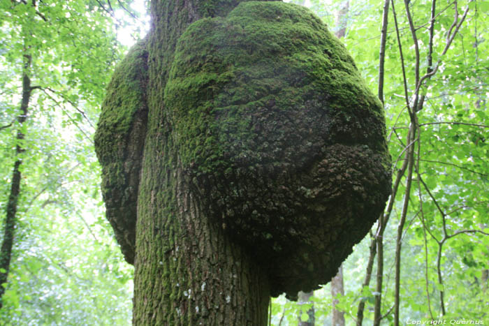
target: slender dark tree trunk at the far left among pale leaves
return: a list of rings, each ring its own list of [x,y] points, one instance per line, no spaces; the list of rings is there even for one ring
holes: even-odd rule
[[[20,155],[24,151],[22,147],[22,140],[24,140],[24,133],[22,133],[22,124],[27,119],[27,110],[29,108],[29,100],[31,98],[31,80],[29,79],[29,70],[31,67],[31,57],[28,54],[24,55],[24,70],[22,72],[22,102],[20,104],[20,115],[17,117],[19,126],[17,129],[17,145],[15,147],[15,154],[17,159],[13,165],[12,182],[10,184],[10,195],[8,196],[5,226],[3,230],[3,242],[1,244],[0,251],[0,284],[6,283],[8,279],[8,271],[10,269],[10,258],[12,257],[13,238],[15,234],[15,223],[17,215],[17,202],[20,194],[20,165],[22,164],[22,158]],[[0,286],[0,309],[3,306],[2,297],[5,293],[5,288]]]

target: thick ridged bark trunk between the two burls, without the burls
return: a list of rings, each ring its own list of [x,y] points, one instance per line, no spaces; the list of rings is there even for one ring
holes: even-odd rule
[[[152,1],[148,128],[136,225],[134,325],[267,323],[267,275],[252,259],[253,253],[209,221],[209,212],[194,196],[192,182],[173,145],[163,101],[177,38],[191,22],[206,15],[224,15],[238,2],[227,1],[224,6],[213,1]]]

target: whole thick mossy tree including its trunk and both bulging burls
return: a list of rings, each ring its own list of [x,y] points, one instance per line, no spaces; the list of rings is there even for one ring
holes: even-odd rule
[[[382,105],[305,8],[151,8],[96,133],[133,323],[265,325],[270,295],[328,283],[384,209]]]

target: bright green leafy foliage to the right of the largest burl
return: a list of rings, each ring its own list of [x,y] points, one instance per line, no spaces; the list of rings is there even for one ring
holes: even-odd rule
[[[418,38],[420,71],[424,73],[429,62],[426,58],[430,52],[432,1],[408,3]],[[342,6],[341,1],[309,1],[309,4],[328,22],[330,28],[336,28],[335,13]],[[443,54],[455,17],[455,5],[458,5],[458,22],[463,10],[468,7],[469,11],[453,43]],[[407,92],[411,96],[416,90],[416,51],[403,7],[402,1],[395,2]],[[400,321],[404,323],[407,318],[465,318],[487,323],[489,147],[486,135],[489,128],[489,71],[487,56],[483,53],[488,47],[488,8],[483,1],[437,2],[436,8],[431,68],[439,63],[439,69],[421,87],[425,102],[423,109],[417,113],[419,139],[414,144],[414,174],[407,220],[402,232]],[[344,43],[372,90],[377,88],[379,74],[381,15],[382,8],[378,1],[349,1]],[[402,63],[392,11],[389,14],[385,65],[384,96],[389,149],[395,162],[393,172],[397,172],[404,161],[411,121],[404,97]],[[412,104],[413,98],[409,97],[409,100]],[[406,179],[402,178],[391,220],[384,233],[382,324],[393,323],[394,320],[395,234],[402,215],[406,184]],[[372,231],[375,232],[375,229]],[[374,281],[367,288],[360,286],[365,276],[369,242],[370,239],[365,239],[359,244],[344,265],[347,293],[340,306],[346,312],[347,324],[355,323],[360,300],[365,300],[366,304],[365,323],[374,317],[374,297],[379,295],[374,290]],[[372,274],[376,274],[375,268]],[[441,292],[444,295],[443,304]],[[330,300],[324,297],[324,293],[326,291],[316,293],[319,301]],[[282,306],[281,301],[275,304]],[[279,307],[274,306],[274,309],[281,311]],[[322,318],[318,316],[321,313],[320,309],[316,309],[316,320]]]

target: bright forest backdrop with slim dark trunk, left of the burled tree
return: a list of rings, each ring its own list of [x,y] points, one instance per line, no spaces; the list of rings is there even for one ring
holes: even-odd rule
[[[2,325],[127,320],[129,300],[111,298],[127,296],[131,272],[97,218],[92,121],[123,51],[102,7],[0,2]]]

